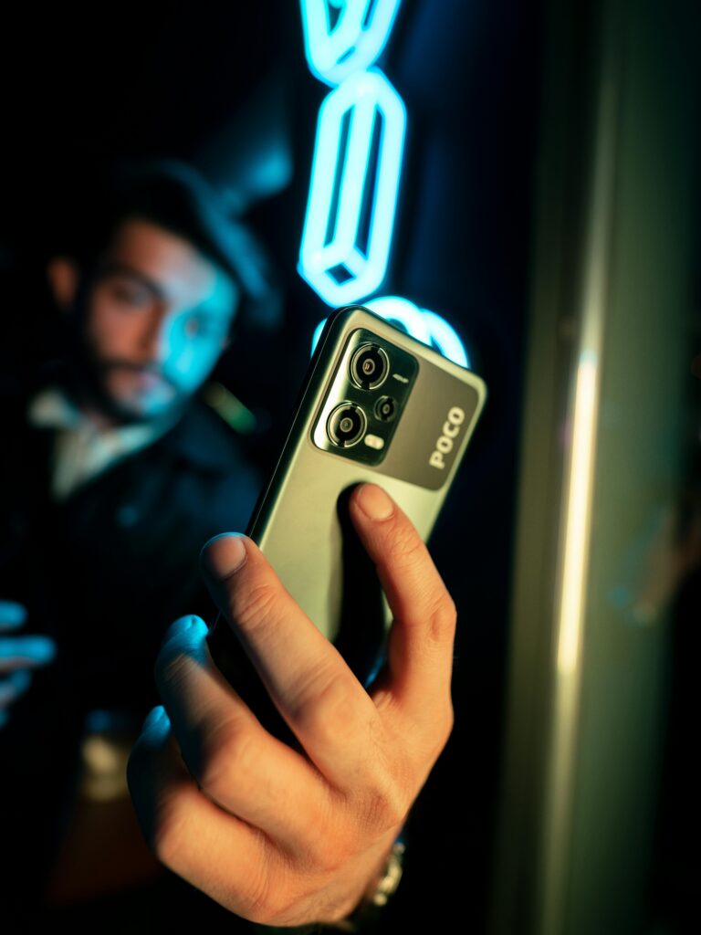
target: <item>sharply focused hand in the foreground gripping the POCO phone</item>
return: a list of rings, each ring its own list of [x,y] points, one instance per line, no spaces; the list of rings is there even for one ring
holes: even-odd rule
[[[165,708],[150,712],[129,763],[157,856],[268,925],[350,913],[451,732],[451,597],[379,487],[357,488],[350,516],[394,617],[388,664],[371,692],[257,546],[218,537],[203,550],[207,585],[302,752],[265,732],[213,664],[205,624],[183,617],[156,663]]]

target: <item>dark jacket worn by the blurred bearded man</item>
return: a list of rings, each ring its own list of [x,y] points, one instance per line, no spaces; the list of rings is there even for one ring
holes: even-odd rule
[[[25,400],[0,405],[0,598],[24,604],[24,631],[58,646],[0,730],[0,828],[17,871],[4,880],[7,907],[41,888],[86,714],[140,720],[159,702],[153,663],[166,627],[183,613],[212,617],[199,550],[245,530],[259,479],[231,429],[193,402],[161,439],[55,503],[53,433],[27,423]]]

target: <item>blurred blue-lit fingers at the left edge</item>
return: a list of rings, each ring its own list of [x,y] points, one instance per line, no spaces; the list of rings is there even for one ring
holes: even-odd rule
[[[49,637],[14,635],[26,618],[27,611],[21,604],[0,600],[0,728],[7,724],[10,705],[32,683],[30,669],[45,666],[56,654],[55,643]]]

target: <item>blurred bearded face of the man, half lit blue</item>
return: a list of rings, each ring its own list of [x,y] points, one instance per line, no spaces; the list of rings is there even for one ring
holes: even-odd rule
[[[85,340],[101,395],[123,419],[156,418],[207,379],[226,344],[234,281],[187,240],[122,222],[85,299]]]

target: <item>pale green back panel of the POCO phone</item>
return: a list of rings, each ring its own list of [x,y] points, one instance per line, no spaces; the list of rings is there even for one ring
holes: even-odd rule
[[[339,397],[350,394],[353,400],[349,361],[374,340],[388,350],[391,365],[396,363],[397,372],[390,367],[382,391],[393,393],[395,387],[397,396],[404,395],[402,408],[380,453],[366,452],[366,446],[357,452],[340,449],[328,435],[329,412]],[[366,309],[342,309],[329,320],[249,529],[282,583],[328,639],[338,637],[349,603],[358,608],[357,616],[363,615],[358,588],[371,590],[367,577],[357,579],[357,586],[348,578],[350,532],[339,497],[342,501],[359,482],[379,483],[427,540],[485,395],[475,374]],[[358,396],[369,398],[362,392]],[[376,438],[371,427],[365,434]],[[376,463],[361,463],[356,455]]]

